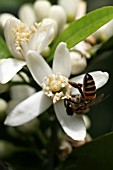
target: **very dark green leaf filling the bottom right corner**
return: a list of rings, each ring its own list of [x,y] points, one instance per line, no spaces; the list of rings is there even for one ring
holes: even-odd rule
[[[60,170],[113,169],[113,133],[89,142],[69,156]]]

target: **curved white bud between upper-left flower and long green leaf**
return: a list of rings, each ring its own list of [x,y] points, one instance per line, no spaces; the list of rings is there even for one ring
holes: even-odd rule
[[[49,18],[54,19],[58,24],[58,34],[63,31],[66,24],[66,13],[60,5],[53,5],[49,11]]]

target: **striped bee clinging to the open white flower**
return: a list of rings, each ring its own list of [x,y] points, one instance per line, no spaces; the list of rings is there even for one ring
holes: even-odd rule
[[[70,95],[68,99],[64,100],[66,112],[68,115],[85,114],[90,107],[102,101],[104,94],[96,97],[96,86],[93,77],[86,74],[83,79],[83,84],[70,82],[69,84],[77,88],[80,92],[78,95]]]

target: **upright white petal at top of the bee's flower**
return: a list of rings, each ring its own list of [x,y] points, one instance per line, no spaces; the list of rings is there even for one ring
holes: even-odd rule
[[[61,42],[55,51],[53,60],[53,72],[60,72],[63,76],[69,77],[71,73],[71,58],[66,43]]]

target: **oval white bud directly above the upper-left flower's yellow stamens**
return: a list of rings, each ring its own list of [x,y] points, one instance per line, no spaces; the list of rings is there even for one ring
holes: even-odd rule
[[[22,22],[32,26],[36,22],[36,16],[31,4],[24,4],[21,6],[18,12],[18,16]]]

